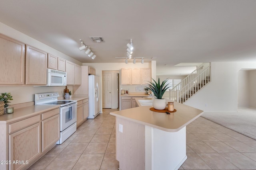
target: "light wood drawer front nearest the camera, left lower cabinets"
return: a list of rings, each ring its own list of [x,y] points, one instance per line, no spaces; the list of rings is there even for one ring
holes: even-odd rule
[[[28,119],[24,119],[22,121],[17,121],[9,125],[9,133],[13,133],[20,129],[24,129],[30,125],[40,122],[40,115],[36,115],[34,117],[30,117]]]

